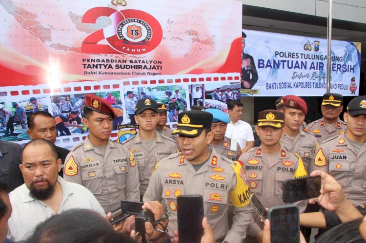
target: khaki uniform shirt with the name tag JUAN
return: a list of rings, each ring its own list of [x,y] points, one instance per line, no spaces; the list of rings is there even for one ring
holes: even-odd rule
[[[347,134],[347,132],[346,132]],[[358,206],[366,201],[366,143],[356,153],[345,134],[320,144],[309,171],[323,170],[341,184],[348,200]]]

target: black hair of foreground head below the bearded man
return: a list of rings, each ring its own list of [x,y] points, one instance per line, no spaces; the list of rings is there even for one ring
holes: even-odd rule
[[[69,209],[37,225],[27,243],[135,243],[90,209]]]

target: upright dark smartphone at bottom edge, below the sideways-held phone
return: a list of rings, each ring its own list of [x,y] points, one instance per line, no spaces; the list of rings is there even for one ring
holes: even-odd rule
[[[296,205],[275,206],[268,210],[271,243],[299,243],[299,207]]]

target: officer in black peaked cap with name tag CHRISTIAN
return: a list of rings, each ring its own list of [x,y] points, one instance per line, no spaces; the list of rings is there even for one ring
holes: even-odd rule
[[[262,145],[248,150],[239,158],[244,163],[251,192],[267,208],[285,205],[282,201],[283,181],[307,176],[301,157],[280,144],[285,133],[284,116],[284,112],[275,110],[259,112],[255,130]],[[304,212],[307,202],[295,204],[300,207],[300,212]]]

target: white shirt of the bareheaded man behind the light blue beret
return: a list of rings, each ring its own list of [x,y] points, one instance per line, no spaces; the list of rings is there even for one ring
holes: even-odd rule
[[[225,137],[228,137],[233,141],[239,143],[240,148],[243,150],[246,146],[246,141],[254,141],[253,130],[249,123],[239,120],[235,125],[230,121],[227,124]]]

